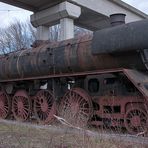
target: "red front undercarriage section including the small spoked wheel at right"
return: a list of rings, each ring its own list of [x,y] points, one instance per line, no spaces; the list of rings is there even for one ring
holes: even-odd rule
[[[125,127],[130,134],[147,130],[147,107],[143,96],[99,96],[93,101],[99,105],[91,125]],[[118,108],[118,109],[117,109]]]

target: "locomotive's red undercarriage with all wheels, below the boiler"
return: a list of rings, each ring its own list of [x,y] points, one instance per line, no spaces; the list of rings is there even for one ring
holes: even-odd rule
[[[128,84],[118,82],[119,77]],[[26,121],[32,114],[35,114],[39,122],[47,124],[58,113],[59,116],[75,126],[121,127],[126,128],[131,134],[137,134],[147,130],[147,105],[145,102],[147,102],[146,80],[148,79],[146,78],[146,75],[136,70],[111,69],[26,80],[17,79],[1,83],[3,84],[1,85],[1,96],[5,95],[5,99],[8,94],[9,97],[13,96],[12,112],[14,118],[19,121]],[[15,90],[13,91],[10,85],[14,87],[20,85],[20,82],[23,82],[23,85],[26,83],[26,85],[21,86],[22,88],[17,86],[13,88]],[[41,85],[46,83],[48,83],[48,88],[40,90]],[[98,89],[95,83],[99,83]],[[123,91],[125,85],[130,87]],[[27,88],[27,86],[29,87]],[[35,88],[36,90],[34,90]],[[71,98],[73,99],[71,100]],[[8,109],[5,116],[2,117],[6,118],[11,110],[10,102],[1,100],[0,104],[1,109],[2,104],[5,104],[4,109]],[[59,104],[58,109],[57,104]],[[71,109],[68,110],[70,106]],[[78,113],[79,116],[83,116],[83,120],[82,117],[76,116]]]

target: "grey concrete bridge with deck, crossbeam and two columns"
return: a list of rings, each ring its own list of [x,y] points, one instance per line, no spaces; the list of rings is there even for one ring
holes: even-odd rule
[[[121,0],[0,0],[33,11],[31,23],[38,40],[48,39],[48,28],[61,24],[61,40],[74,37],[74,24],[92,31],[110,26],[111,14],[126,14],[126,23],[148,18]]]

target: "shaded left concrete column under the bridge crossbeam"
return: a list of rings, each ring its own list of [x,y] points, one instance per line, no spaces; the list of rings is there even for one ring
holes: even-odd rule
[[[49,39],[49,27],[46,26],[38,26],[37,27],[37,40],[45,41]]]

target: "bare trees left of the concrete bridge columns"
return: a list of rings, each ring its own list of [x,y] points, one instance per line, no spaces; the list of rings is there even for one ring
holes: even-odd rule
[[[30,48],[35,39],[36,30],[30,23],[16,21],[8,28],[0,29],[0,53]]]

